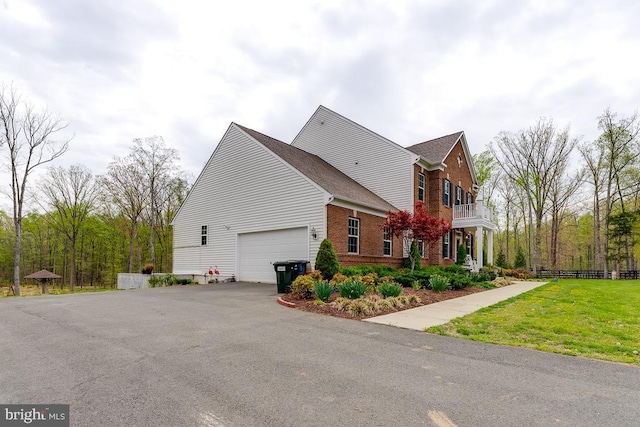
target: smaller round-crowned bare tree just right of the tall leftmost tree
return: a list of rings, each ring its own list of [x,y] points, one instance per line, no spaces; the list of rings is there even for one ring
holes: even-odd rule
[[[71,246],[69,290],[73,292],[76,276],[76,243],[85,221],[95,208],[96,183],[91,172],[81,165],[51,168],[42,182],[42,193],[53,208],[48,217]]]

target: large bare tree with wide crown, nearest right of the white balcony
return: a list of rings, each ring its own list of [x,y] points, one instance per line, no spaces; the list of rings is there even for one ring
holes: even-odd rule
[[[525,191],[529,256],[534,274],[541,259],[542,221],[554,182],[564,179],[567,158],[577,143],[576,138],[570,137],[568,127],[558,130],[553,120],[541,118],[535,125],[518,133],[500,132],[490,145],[505,175]]]

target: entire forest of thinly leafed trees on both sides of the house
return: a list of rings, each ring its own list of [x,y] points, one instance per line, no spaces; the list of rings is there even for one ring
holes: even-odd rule
[[[51,167],[67,123],[0,85],[0,164],[11,176],[0,210],[0,283],[19,294],[40,269],[74,286],[115,286],[120,272],[172,268],[171,221],[189,191],[162,137],[133,139],[103,175]],[[473,156],[479,198],[495,211],[495,264],[530,270],[636,270],[640,120],[605,110],[582,141],[541,118],[502,131]],[[36,170],[45,172],[36,175]],[[486,239],[485,239],[486,241]]]

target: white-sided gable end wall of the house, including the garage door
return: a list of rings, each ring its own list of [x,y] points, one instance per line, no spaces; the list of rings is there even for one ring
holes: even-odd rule
[[[309,230],[324,228],[325,198],[321,188],[232,124],[173,222],[173,271],[204,274],[217,265],[221,277],[275,283],[271,262],[315,256],[320,241]]]

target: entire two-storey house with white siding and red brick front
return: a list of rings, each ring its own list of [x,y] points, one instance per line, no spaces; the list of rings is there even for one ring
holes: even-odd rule
[[[443,204],[446,182],[465,189],[464,203]],[[456,244],[475,233],[481,254],[492,221],[478,218],[475,189],[463,132],[403,148],[323,106],[291,144],[232,123],[173,221],[173,272],[216,266],[221,278],[275,283],[274,261],[313,264],[324,238],[343,265],[400,266],[402,242],[385,237],[385,221],[416,202],[457,226]],[[439,252],[434,265],[454,261]]]

